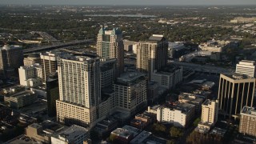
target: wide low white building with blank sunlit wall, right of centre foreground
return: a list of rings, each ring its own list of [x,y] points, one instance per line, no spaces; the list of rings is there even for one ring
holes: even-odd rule
[[[186,127],[192,122],[194,111],[195,106],[188,103],[178,104],[174,108],[162,106],[157,110],[157,120],[173,123],[174,126]]]

